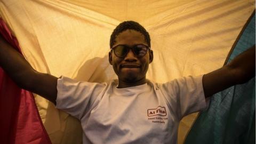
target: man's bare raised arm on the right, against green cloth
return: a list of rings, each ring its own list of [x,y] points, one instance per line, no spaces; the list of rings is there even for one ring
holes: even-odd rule
[[[203,76],[205,97],[242,84],[255,76],[255,45],[239,54],[228,65]]]

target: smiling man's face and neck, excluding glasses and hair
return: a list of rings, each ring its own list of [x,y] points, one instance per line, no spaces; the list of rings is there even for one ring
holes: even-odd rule
[[[145,37],[140,32],[131,29],[117,35],[114,46],[121,44],[129,47],[138,44],[148,45],[145,42]],[[151,50],[139,58],[134,55],[131,49],[124,58],[116,57],[113,51],[109,52],[109,62],[113,65],[113,69],[118,76],[118,87],[120,88],[145,84],[148,65],[152,61],[153,51]]]

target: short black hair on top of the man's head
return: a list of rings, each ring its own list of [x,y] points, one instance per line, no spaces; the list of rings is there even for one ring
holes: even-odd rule
[[[135,22],[135,21],[124,21],[122,23],[120,23],[113,31],[113,33],[110,36],[110,48],[115,44],[115,39],[117,37],[118,34],[122,33],[123,31],[127,30],[127,29],[132,29],[132,30],[136,30],[139,31],[144,37],[145,37],[145,41],[148,44],[148,46],[150,47],[150,36],[148,31],[142,27],[140,25],[140,23]]]

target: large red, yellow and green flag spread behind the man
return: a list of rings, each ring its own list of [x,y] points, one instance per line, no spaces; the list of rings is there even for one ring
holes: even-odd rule
[[[207,74],[255,44],[253,11],[255,0],[0,1],[0,17],[35,70],[98,83],[117,78],[108,62],[109,38],[123,21],[137,21],[148,30],[154,60],[147,78],[165,83]],[[17,39],[1,26],[2,35],[20,51]],[[47,134],[52,143],[82,143],[79,119],[34,94],[46,134],[31,93],[0,71],[0,143],[47,143]],[[214,95],[198,117],[182,118],[178,132],[178,143],[186,144],[250,143],[251,138],[255,79]]]

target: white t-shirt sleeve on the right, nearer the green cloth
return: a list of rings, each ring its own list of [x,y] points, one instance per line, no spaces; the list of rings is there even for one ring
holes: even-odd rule
[[[162,84],[169,106],[180,119],[207,107],[202,78],[203,75],[188,76]]]

